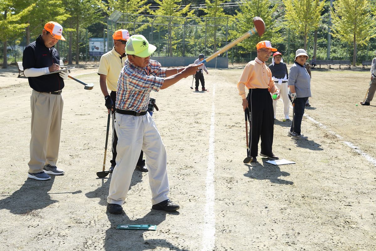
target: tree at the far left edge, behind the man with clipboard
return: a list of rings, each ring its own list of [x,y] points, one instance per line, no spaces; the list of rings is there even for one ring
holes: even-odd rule
[[[8,68],[7,51],[8,40],[17,37],[29,24],[21,23],[20,19],[29,14],[35,4],[28,6],[15,14],[14,1],[0,0],[0,41],[3,42],[3,68]]]

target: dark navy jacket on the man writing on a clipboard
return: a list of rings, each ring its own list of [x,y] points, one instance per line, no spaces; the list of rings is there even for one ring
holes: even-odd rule
[[[55,47],[47,48],[41,35],[36,38],[35,42],[26,46],[23,52],[22,66],[25,70],[28,68],[50,67],[53,63],[59,64],[59,62],[58,50]],[[36,91],[50,92],[64,88],[64,80],[59,76],[59,73],[29,77],[28,79],[30,87]]]

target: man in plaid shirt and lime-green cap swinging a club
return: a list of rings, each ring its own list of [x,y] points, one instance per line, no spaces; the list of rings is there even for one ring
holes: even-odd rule
[[[107,210],[121,213],[127,196],[134,166],[141,149],[149,168],[152,208],[174,211],[179,205],[168,199],[167,155],[161,135],[147,112],[150,91],[159,91],[180,79],[193,75],[200,65],[162,69],[150,55],[156,47],[143,35],[127,41],[128,59],[120,72],[117,85],[115,129],[118,135],[116,167],[112,173]]]

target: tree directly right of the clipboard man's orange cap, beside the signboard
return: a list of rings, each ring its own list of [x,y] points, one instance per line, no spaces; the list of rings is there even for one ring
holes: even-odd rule
[[[80,27],[87,27],[92,23],[102,20],[105,6],[100,0],[62,0],[65,11],[70,15],[64,22],[63,28],[69,32],[69,53],[68,64],[72,64],[71,47],[72,32],[76,32],[76,64],[79,63],[79,30]]]

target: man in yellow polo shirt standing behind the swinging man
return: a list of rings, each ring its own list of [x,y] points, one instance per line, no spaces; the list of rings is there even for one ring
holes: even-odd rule
[[[117,90],[117,81],[120,75],[121,69],[124,67],[124,62],[127,59],[127,55],[125,54],[125,44],[129,39],[129,32],[128,30],[117,30],[115,31],[114,35],[114,47],[111,51],[105,53],[100,58],[99,62],[99,69],[98,75],[100,89],[102,90],[103,95],[105,96],[105,106],[108,109],[108,112],[111,110],[112,116],[112,160],[111,160],[111,167],[109,172],[112,172],[116,165],[116,146],[117,146],[117,135],[114,127],[114,119],[115,119],[115,102],[116,102],[116,90]],[[108,94],[107,88],[111,91]],[[147,168],[145,166],[145,160],[143,160],[143,151],[139,155],[138,162],[136,165],[136,169],[140,170],[141,172],[147,172]]]

